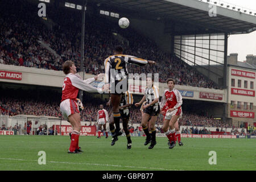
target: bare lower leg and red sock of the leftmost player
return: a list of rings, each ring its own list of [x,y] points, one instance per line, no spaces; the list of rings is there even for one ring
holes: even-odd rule
[[[68,150],[68,153],[77,153],[79,152],[79,135],[81,130],[80,114],[75,113],[71,114],[68,117],[69,122],[73,126],[73,131],[71,133],[71,144]]]

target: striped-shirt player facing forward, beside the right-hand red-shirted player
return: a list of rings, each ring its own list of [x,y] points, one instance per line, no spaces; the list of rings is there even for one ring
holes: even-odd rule
[[[154,80],[152,80],[151,77],[147,77],[147,87],[145,89],[145,95],[140,102],[135,104],[135,106],[138,107],[146,100],[146,104],[143,106],[142,127],[144,133],[146,134],[146,142],[144,143],[144,145],[146,146],[148,143],[150,143],[151,140],[151,144],[148,149],[154,148],[156,144],[155,122],[158,119],[158,114],[160,113],[159,89],[153,84],[153,81]],[[151,134],[149,133],[147,128],[147,121],[149,119]]]

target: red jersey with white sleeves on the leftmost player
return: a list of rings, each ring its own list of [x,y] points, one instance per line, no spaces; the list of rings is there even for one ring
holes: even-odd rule
[[[97,92],[97,88],[90,85],[91,82],[95,81],[94,78],[89,78],[87,80],[81,80],[79,75],[74,75],[69,73],[64,78],[62,86],[62,97],[61,102],[66,99],[76,100],[79,89],[86,92]]]

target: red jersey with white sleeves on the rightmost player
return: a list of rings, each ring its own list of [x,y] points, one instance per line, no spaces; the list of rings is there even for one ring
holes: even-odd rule
[[[161,110],[166,111],[167,109],[175,108],[180,109],[182,105],[182,96],[177,89],[173,89],[171,91],[164,90],[162,101],[160,104]]]

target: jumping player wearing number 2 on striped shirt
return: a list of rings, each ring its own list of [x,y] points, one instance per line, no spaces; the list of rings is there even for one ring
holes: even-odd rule
[[[105,66],[105,83],[110,84],[111,90],[111,105],[113,114],[110,115],[110,123],[114,123],[114,125],[110,125],[110,131],[113,134],[113,138],[122,135],[120,131],[120,118],[121,114],[119,113],[119,105],[121,101],[121,94],[127,91],[128,85],[128,71],[127,64],[136,64],[139,66],[143,66],[146,64],[155,64],[155,61],[147,61],[144,59],[139,59],[138,57],[123,55],[123,48],[121,46],[117,46],[114,49],[114,55],[109,56],[104,61]],[[109,123],[109,124],[110,124]]]

